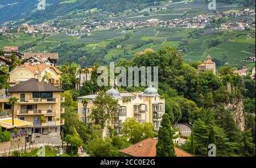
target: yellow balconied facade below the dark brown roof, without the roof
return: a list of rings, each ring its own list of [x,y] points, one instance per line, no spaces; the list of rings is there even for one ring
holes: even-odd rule
[[[14,106],[14,117],[33,123],[32,128],[36,133],[60,132],[60,125],[64,125],[61,114],[60,92],[53,92],[52,98],[33,98],[33,93],[10,93],[18,98]]]

